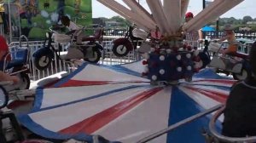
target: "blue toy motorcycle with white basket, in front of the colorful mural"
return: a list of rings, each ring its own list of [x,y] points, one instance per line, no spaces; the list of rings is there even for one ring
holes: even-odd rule
[[[46,39],[44,41],[44,47],[38,49],[33,56],[33,63],[38,70],[45,70],[49,67],[52,60],[54,60],[55,55],[59,60],[72,60],[72,59],[84,59],[91,63],[97,63],[102,57],[102,42],[103,29],[98,28],[93,36],[84,37],[83,44],[78,45],[75,41],[75,35],[77,32],[83,31],[83,29],[78,31],[70,32],[70,35],[61,34],[58,31],[54,31],[49,28],[49,32],[46,32]],[[53,41],[54,40],[54,41]],[[58,43],[55,47],[52,43]],[[65,49],[67,49],[67,54],[61,55],[62,46],[61,43],[67,43]]]

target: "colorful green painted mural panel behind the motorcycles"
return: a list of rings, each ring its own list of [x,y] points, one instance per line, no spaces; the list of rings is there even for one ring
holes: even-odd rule
[[[31,39],[44,38],[45,31],[58,23],[61,15],[69,16],[81,26],[92,24],[91,0],[10,0],[10,3],[15,6],[11,8],[11,13],[15,11],[12,23],[20,25],[21,33]]]

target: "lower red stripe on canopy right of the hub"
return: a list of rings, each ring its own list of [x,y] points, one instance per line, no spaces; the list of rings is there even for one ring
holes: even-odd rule
[[[186,86],[185,88],[193,90],[193,91],[201,93],[201,94],[204,94],[207,97],[210,97],[212,100],[217,100],[220,103],[225,103],[227,98],[228,98],[227,94],[222,94],[222,93],[219,93],[217,91],[212,91],[212,90],[208,90],[208,89],[193,88],[193,87],[188,87],[188,86]]]

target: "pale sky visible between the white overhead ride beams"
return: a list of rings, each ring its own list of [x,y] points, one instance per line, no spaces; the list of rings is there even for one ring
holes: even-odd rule
[[[121,0],[116,0],[121,2]],[[147,3],[145,0],[140,0],[141,4],[147,8]],[[190,0],[188,11],[198,14],[202,9],[202,0]],[[227,13],[223,14],[222,17],[235,17],[236,19],[242,19],[243,16],[250,15],[256,18],[256,0],[244,0],[242,3],[237,5],[235,8],[230,9]],[[96,0],[92,0],[92,17],[113,17],[118,15],[114,13],[111,9],[108,9],[102,3],[98,3]]]

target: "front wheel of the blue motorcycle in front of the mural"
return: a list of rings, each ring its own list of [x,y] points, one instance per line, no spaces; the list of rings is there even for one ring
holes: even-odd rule
[[[33,59],[34,66],[36,66],[39,71],[44,71],[47,69],[51,61],[52,59],[49,57],[49,55],[36,56]]]

